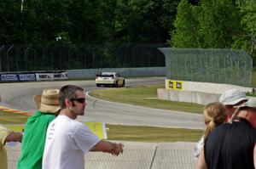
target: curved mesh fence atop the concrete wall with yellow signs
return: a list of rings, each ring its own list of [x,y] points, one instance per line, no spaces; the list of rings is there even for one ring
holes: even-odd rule
[[[251,87],[253,59],[243,50],[160,48],[166,56],[166,78]]]

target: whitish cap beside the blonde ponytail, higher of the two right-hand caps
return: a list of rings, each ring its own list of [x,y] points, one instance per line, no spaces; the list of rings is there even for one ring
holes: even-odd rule
[[[218,100],[224,105],[235,105],[242,100],[247,100],[247,96],[245,92],[241,92],[240,90],[233,88],[221,94]]]

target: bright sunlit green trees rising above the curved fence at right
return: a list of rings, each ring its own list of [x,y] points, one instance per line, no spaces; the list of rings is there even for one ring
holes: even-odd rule
[[[254,58],[255,25],[254,0],[181,0],[170,43],[175,48],[242,48]]]

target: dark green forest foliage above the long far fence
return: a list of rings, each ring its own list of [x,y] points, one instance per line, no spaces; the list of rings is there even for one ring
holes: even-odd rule
[[[165,43],[178,2],[3,0],[0,43]]]

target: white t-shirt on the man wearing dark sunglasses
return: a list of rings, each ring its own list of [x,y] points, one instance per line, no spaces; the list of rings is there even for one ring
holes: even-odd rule
[[[47,129],[43,169],[84,169],[84,154],[99,141],[84,124],[58,115]]]

